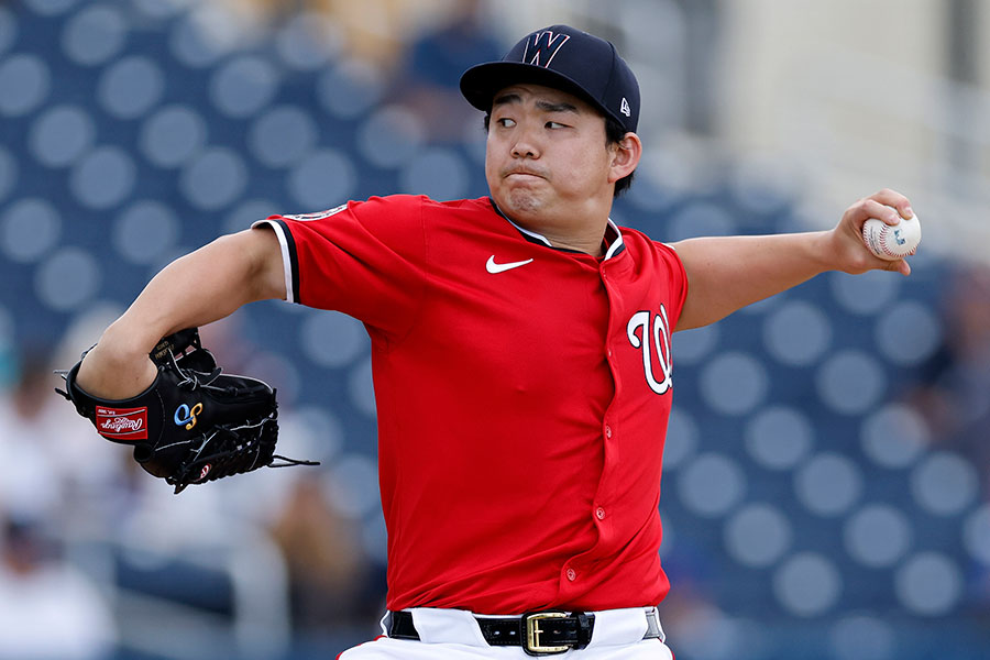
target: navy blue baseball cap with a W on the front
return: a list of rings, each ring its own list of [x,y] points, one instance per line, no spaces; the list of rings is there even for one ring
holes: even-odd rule
[[[532,82],[583,98],[626,131],[639,121],[639,84],[615,46],[569,25],[532,32],[499,62],[473,66],[461,76],[461,94],[488,112],[499,89]]]

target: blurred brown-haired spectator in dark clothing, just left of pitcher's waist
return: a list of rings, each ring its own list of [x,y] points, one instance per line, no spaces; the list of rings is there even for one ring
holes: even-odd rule
[[[298,479],[271,529],[288,566],[293,626],[306,632],[366,627],[382,614],[384,584],[360,546],[360,530],[327,501],[321,479]]]

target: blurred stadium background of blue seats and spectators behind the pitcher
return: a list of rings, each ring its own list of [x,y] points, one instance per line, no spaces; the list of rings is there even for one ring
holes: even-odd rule
[[[359,323],[273,302],[206,328],[229,371],[278,387],[279,449],[323,466],[179,497],[51,370],[164,264],[272,212],[485,195],[458,76],[554,22],[613,40],[642,86],[620,224],[825,229],[880,187],[924,223],[911,278],[829,274],[675,336],[678,657],[990,657],[990,3],[19,0],[0,3],[0,658],[302,660],[376,634]]]

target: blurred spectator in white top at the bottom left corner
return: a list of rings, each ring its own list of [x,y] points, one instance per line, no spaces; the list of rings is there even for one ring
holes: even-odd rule
[[[0,659],[108,658],[116,632],[102,594],[61,560],[40,521],[15,516],[0,539]]]

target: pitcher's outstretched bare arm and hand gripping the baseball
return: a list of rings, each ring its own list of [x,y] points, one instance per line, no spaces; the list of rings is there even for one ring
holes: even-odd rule
[[[675,330],[714,323],[741,307],[779,294],[820,273],[911,273],[904,260],[873,256],[862,242],[862,223],[879,218],[897,224],[911,218],[911,202],[894,190],[860,199],[829,231],[762,237],[689,239],[672,246],[688,272],[688,299]]]

